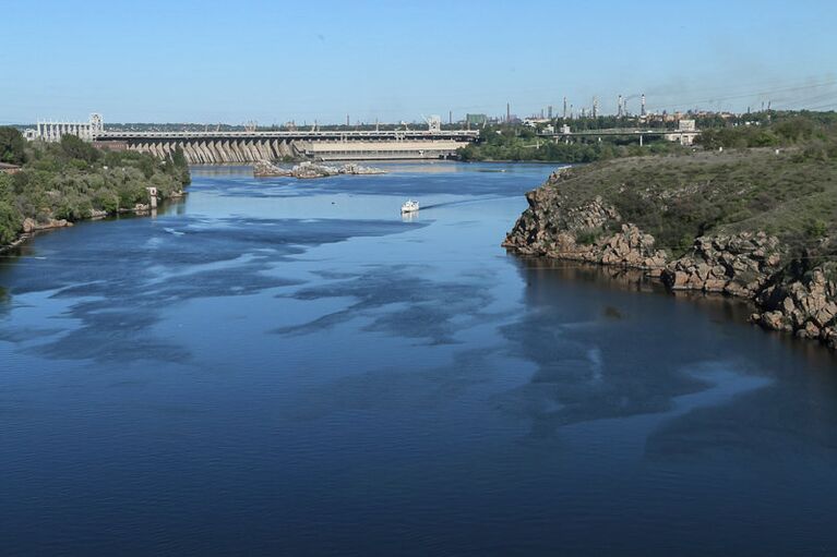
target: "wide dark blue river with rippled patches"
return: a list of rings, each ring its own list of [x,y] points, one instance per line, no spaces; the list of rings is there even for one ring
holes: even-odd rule
[[[827,350],[506,254],[551,167],[388,168],[2,256],[0,554],[837,553]]]

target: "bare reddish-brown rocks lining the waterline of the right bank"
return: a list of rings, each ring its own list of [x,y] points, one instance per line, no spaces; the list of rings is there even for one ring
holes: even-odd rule
[[[601,197],[575,203],[563,195],[561,172],[528,192],[529,207],[503,246],[525,255],[641,269],[670,290],[726,294],[751,301],[751,322],[769,330],[817,339],[837,349],[837,282],[763,231],[695,239],[682,256],[658,249],[653,235],[624,222]]]

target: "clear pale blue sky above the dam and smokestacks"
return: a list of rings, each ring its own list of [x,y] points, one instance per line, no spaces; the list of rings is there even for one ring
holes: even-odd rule
[[[834,0],[0,0],[0,123],[837,109]]]

